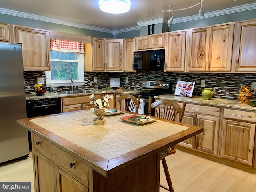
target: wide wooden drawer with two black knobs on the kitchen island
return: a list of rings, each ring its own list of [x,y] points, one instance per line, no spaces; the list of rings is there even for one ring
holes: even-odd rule
[[[53,146],[49,142],[43,140],[39,136],[32,134],[32,142],[33,147],[38,152],[46,156],[49,160],[54,162],[56,165],[64,168],[66,171],[74,174],[74,176],[80,178],[86,184],[88,184],[88,166],[78,161],[76,158],[66,154],[64,151],[59,148]],[[36,144],[36,142],[40,142],[40,144]],[[72,168],[70,167],[70,163],[74,163]]]

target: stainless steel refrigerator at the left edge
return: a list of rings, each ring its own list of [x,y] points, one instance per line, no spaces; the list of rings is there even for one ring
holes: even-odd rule
[[[0,42],[0,164],[29,155],[22,45]]]

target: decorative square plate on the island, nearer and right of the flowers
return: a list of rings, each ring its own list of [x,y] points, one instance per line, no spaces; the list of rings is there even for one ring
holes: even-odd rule
[[[142,124],[155,122],[158,118],[152,117],[152,116],[147,116],[147,115],[136,114],[136,115],[130,115],[130,116],[126,116],[126,117],[121,117],[120,119],[125,120],[127,122],[142,125]]]

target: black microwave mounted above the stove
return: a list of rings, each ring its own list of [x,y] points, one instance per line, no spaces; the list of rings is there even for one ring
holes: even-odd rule
[[[165,50],[148,50],[133,52],[134,70],[164,70]]]

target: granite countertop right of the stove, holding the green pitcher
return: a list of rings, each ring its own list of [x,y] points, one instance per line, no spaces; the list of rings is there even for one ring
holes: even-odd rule
[[[203,105],[209,105],[209,106],[228,107],[228,108],[256,111],[256,107],[252,107],[245,103],[241,103],[238,100],[219,99],[219,98],[211,98],[210,100],[204,100],[202,96],[182,97],[174,94],[159,95],[159,96],[154,96],[154,98],[169,99],[169,100],[175,100],[179,102],[186,101],[187,103],[190,103],[190,104],[203,104]]]

